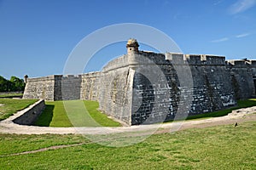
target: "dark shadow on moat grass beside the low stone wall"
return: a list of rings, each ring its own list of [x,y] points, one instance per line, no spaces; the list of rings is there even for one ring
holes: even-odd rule
[[[38,117],[38,120],[34,122],[33,125],[39,127],[49,127],[49,124],[52,121],[54,108],[55,105],[45,105],[43,113]]]

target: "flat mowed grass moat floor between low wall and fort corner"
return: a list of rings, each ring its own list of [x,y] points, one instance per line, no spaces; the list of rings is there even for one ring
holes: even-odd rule
[[[36,126],[42,127],[119,127],[97,109],[99,104],[90,100],[46,101],[46,108]]]

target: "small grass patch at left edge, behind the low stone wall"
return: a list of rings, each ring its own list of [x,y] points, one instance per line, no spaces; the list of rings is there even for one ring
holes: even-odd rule
[[[2,99],[0,98],[0,121],[12,116],[15,112],[20,111],[32,105],[38,99]]]

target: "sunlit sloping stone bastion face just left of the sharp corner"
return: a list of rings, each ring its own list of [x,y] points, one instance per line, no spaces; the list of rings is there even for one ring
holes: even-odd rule
[[[133,76],[128,55],[124,55],[103,68],[99,88],[100,110],[129,125]]]

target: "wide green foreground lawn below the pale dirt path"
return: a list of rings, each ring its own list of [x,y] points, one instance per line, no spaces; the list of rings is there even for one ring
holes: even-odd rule
[[[256,169],[256,122],[154,134],[121,148],[82,144],[7,156],[83,142],[79,135],[0,133],[0,169]]]

